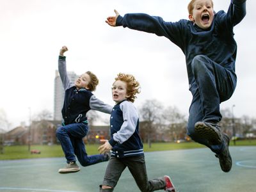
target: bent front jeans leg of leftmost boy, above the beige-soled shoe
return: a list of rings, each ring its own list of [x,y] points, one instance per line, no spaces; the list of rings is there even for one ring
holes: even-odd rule
[[[61,143],[61,147],[67,159],[67,163],[76,161],[72,139],[75,137],[83,138],[86,134],[87,130],[83,124],[65,125],[63,127],[59,127],[56,130],[56,136]]]

